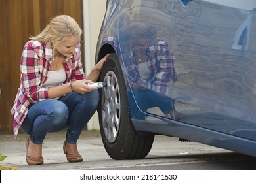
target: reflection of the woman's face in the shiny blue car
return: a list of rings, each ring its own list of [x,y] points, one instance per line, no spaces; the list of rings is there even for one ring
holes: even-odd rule
[[[134,54],[145,53],[148,50],[148,40],[143,37],[135,37],[129,40],[129,47]]]

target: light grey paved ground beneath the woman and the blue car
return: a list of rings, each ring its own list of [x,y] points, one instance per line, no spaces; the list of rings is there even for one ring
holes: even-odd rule
[[[84,161],[81,163],[68,163],[63,153],[62,145],[65,133],[49,133],[43,143],[44,165],[30,166],[26,164],[26,137],[20,134],[15,141],[12,134],[0,135],[0,153],[6,155],[0,165],[17,167],[17,169],[139,169],[141,166],[152,164],[178,163],[194,161],[190,156],[202,154],[229,153],[227,150],[198,144],[196,142],[180,142],[175,137],[157,135],[152,150],[145,159],[136,161],[116,161],[111,159],[102,145],[99,131],[83,131],[78,144],[80,154]],[[207,156],[205,156],[207,159]],[[204,157],[204,158],[205,158]],[[165,162],[166,161],[166,162]],[[202,161],[205,161],[204,159]],[[184,163],[184,162],[182,162]]]

